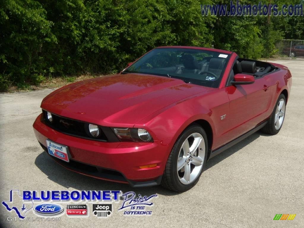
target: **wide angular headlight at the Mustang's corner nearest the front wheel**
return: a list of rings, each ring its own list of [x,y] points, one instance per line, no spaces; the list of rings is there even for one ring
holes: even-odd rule
[[[150,133],[142,128],[113,128],[120,141],[153,142]]]

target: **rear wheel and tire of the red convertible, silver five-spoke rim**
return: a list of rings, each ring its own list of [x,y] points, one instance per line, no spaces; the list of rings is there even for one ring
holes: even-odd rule
[[[283,101],[283,104],[280,108],[280,102]],[[277,134],[283,125],[286,112],[286,98],[281,94],[275,103],[275,107],[271,113],[271,116],[268,119],[268,123],[261,129],[262,132],[270,135]],[[281,119],[282,118],[282,119]]]

